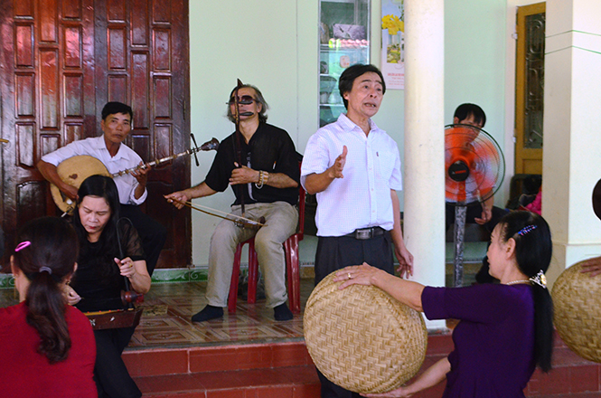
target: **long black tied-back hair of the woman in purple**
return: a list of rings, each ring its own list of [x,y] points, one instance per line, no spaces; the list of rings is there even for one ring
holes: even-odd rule
[[[524,275],[532,278],[549,269],[553,243],[549,224],[544,218],[531,212],[511,212],[502,217],[499,225],[502,242],[515,241],[515,259]],[[532,283],[532,295],[534,360],[543,372],[549,372],[553,354],[553,301],[549,290],[537,283]]]

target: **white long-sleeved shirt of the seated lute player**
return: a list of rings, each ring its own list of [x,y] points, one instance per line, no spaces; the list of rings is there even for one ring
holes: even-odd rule
[[[60,147],[54,152],[42,156],[42,160],[54,166],[59,166],[63,160],[80,155],[96,157],[107,167],[108,173],[110,174],[115,174],[126,170],[127,168],[138,166],[142,161],[142,157],[138,156],[132,148],[127,147],[125,144],[121,144],[117,151],[117,155],[111,157],[108,153],[107,145],[104,142],[104,135],[73,141],[65,147]],[[121,204],[144,203],[148,192],[145,189],[144,194],[136,199],[135,191],[138,185],[136,177],[126,174],[119,175],[113,179],[115,180],[115,185],[117,185],[119,202]]]

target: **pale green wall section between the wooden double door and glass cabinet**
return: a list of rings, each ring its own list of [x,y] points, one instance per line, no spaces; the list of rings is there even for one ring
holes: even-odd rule
[[[303,7],[299,7],[299,4]],[[258,86],[270,110],[268,121],[285,128],[303,152],[318,127],[317,10],[296,0],[190,1],[192,131],[199,142],[220,141],[234,127],[225,118],[226,100],[239,78]],[[314,100],[315,99],[315,100]],[[192,184],[202,182],[214,152],[199,156]],[[234,195],[196,199],[229,211]],[[193,212],[193,264],[206,265],[211,232],[220,219]]]

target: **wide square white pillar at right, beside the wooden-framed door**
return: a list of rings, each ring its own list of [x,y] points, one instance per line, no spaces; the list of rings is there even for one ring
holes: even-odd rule
[[[591,195],[601,178],[601,2],[548,0],[542,215],[553,234],[548,275],[601,255]]]

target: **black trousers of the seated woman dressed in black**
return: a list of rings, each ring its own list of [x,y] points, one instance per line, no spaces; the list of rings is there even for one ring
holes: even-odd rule
[[[94,380],[99,398],[139,398],[142,392],[127,372],[121,358],[135,327],[94,330],[96,364]]]

